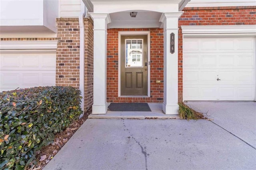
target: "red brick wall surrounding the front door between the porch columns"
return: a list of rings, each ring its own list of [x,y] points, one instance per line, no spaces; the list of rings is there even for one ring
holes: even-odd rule
[[[150,97],[118,97],[118,31],[150,31]],[[108,29],[107,102],[162,103],[164,93],[163,29]],[[162,83],[156,84],[156,79]]]

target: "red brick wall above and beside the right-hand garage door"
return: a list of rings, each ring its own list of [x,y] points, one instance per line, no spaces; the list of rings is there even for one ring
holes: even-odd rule
[[[254,25],[256,6],[184,8],[179,26]],[[182,30],[178,35],[178,99],[182,101]]]

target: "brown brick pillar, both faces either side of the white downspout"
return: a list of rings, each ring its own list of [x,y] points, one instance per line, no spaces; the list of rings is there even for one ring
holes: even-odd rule
[[[78,18],[57,18],[56,85],[79,89],[80,26]],[[84,108],[93,102],[93,21],[84,18]]]

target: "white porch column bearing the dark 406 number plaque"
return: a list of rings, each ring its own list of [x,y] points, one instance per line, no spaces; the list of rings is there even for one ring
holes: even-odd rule
[[[178,114],[178,19],[183,12],[163,13],[164,25],[164,102],[165,114]],[[170,35],[174,33],[174,53],[170,52]]]

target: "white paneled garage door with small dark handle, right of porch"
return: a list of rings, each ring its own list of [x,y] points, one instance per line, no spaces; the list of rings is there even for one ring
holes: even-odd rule
[[[184,101],[253,101],[255,77],[254,38],[184,38]]]

